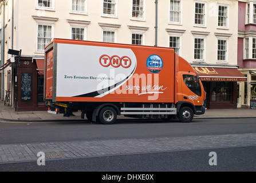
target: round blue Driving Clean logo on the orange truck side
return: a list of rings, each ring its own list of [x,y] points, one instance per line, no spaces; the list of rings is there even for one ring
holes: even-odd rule
[[[147,68],[151,73],[159,73],[163,69],[163,60],[159,55],[150,55],[147,59]]]

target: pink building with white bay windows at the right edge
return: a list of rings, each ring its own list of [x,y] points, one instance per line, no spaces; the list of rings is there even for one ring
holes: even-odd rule
[[[247,82],[239,83],[240,105],[256,104],[256,1],[238,3],[238,65]]]

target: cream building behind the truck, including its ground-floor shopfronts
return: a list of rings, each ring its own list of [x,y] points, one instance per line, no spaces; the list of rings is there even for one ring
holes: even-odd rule
[[[42,62],[53,38],[172,47],[202,79],[207,108],[237,108],[237,83],[246,81],[237,65],[238,0],[5,0],[0,6],[1,65],[9,65],[2,67],[2,98],[10,89],[17,110],[45,110]],[[22,50],[18,65],[8,49]]]

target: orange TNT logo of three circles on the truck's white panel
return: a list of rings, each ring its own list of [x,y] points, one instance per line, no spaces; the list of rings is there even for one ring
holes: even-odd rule
[[[131,58],[124,56],[120,58],[117,55],[113,55],[112,57],[109,57],[109,55],[101,55],[100,57],[100,65],[103,67],[108,67],[111,65],[112,67],[119,67],[122,66],[124,68],[128,68],[131,66],[132,61]]]

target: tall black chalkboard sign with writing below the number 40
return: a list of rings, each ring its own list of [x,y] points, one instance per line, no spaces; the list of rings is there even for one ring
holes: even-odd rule
[[[21,73],[21,102],[32,101],[32,73]]]

